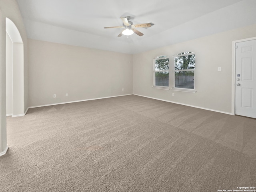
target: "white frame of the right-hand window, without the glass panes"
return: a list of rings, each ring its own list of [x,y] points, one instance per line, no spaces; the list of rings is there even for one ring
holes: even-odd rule
[[[188,53],[186,53],[188,52]],[[179,57],[179,56],[188,56],[188,55],[195,55],[196,57],[196,53],[195,52],[180,52],[178,54],[175,54],[173,57],[174,60],[174,64],[173,64],[173,71],[172,71],[172,75],[173,75],[173,84],[172,84],[172,90],[173,91],[182,91],[182,92],[192,92],[195,93],[196,92],[196,65],[194,69],[182,69],[182,70],[175,70],[175,58]],[[182,54],[182,53],[186,53],[186,54]],[[196,62],[195,62],[196,63]],[[194,71],[194,89],[190,89],[190,88],[178,88],[175,87],[175,72],[177,71]]]

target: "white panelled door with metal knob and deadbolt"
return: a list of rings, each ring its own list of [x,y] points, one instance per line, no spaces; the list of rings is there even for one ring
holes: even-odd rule
[[[235,114],[256,118],[256,40],[235,47]]]

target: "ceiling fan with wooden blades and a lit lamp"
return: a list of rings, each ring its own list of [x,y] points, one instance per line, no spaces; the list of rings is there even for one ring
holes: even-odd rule
[[[133,33],[137,34],[138,36],[142,36],[144,35],[142,32],[136,30],[135,28],[137,27],[144,27],[144,28],[148,28],[151,27],[152,25],[154,25],[154,23],[143,23],[143,24],[133,24],[133,22],[130,21],[130,16],[126,16],[126,17],[120,17],[122,19],[123,22],[123,26],[116,26],[116,27],[104,27],[104,29],[108,29],[108,28],[125,28],[124,30],[122,30],[122,32],[120,32],[120,34],[118,35],[118,37],[121,37],[123,34],[124,35],[131,35]]]

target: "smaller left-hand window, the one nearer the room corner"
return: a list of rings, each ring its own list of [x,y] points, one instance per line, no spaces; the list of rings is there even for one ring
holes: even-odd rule
[[[153,62],[153,88],[169,89],[169,57],[158,56]]]

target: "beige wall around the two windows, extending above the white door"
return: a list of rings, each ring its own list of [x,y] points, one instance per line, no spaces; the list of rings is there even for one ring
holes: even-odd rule
[[[256,36],[256,24],[135,54],[133,93],[231,113],[232,41],[254,36]],[[153,58],[168,55],[171,57],[171,67],[173,67],[172,56],[184,51],[196,53],[196,93],[152,88]],[[221,67],[221,71],[217,71],[218,67]],[[173,79],[170,76],[170,88],[172,84]]]

